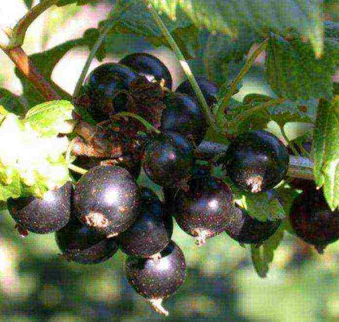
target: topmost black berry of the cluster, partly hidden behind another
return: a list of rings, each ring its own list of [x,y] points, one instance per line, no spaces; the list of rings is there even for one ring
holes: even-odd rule
[[[134,53],[125,56],[119,63],[131,67],[149,81],[164,80],[164,85],[172,90],[171,73],[157,57],[147,53]]]

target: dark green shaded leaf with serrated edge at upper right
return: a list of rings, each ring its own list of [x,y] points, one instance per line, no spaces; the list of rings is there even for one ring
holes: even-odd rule
[[[278,97],[291,101],[331,98],[338,51],[337,42],[327,39],[325,51],[321,59],[317,59],[309,42],[304,43],[296,36],[287,41],[271,34],[266,78]]]

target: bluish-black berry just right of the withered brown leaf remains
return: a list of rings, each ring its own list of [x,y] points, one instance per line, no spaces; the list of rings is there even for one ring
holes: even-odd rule
[[[207,122],[195,99],[186,94],[170,93],[165,99],[166,109],[161,114],[161,131],[191,136],[199,145],[207,132]]]

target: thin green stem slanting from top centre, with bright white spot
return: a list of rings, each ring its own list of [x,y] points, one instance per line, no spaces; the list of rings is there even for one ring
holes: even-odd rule
[[[168,41],[169,45],[171,46],[172,50],[174,51],[174,53],[176,54],[177,59],[179,60],[179,63],[183,69],[183,71],[185,72],[189,82],[192,85],[192,88],[195,92],[195,94],[197,95],[197,98],[199,100],[199,102],[201,103],[201,107],[202,107],[202,111],[205,114],[205,117],[208,121],[208,123],[217,131],[220,132],[219,127],[217,126],[216,120],[211,112],[211,109],[208,107],[207,102],[204,98],[204,96],[202,95],[202,92],[200,90],[200,87],[197,83],[197,80],[194,78],[194,75],[187,63],[187,61],[185,60],[184,56],[182,55],[176,41],[173,39],[171,33],[168,31],[167,27],[165,26],[165,24],[163,23],[163,21],[160,19],[157,11],[154,9],[153,5],[151,3],[149,3],[148,0],[143,0],[145,6],[147,7],[147,9],[150,11],[151,15],[153,16],[154,20],[156,21],[156,23],[158,24],[161,32],[163,33],[164,37],[166,38],[166,40]]]

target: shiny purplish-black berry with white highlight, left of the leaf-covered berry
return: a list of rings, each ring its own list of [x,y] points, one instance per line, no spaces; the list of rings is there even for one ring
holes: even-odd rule
[[[201,246],[225,230],[233,195],[227,184],[211,176],[193,178],[188,186],[188,191],[180,190],[175,197],[174,218]]]

